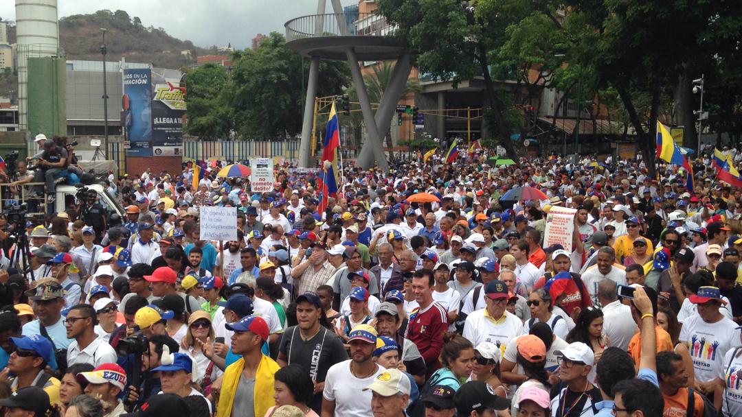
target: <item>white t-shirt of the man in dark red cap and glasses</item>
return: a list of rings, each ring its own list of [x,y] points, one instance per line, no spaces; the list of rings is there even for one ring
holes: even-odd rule
[[[523,322],[514,314],[505,311],[505,320],[496,323],[489,316],[487,309],[476,310],[467,316],[464,321],[464,332],[462,336],[469,339],[476,346],[483,341],[490,341],[497,347],[504,350],[505,344],[511,338],[520,336],[523,333]]]

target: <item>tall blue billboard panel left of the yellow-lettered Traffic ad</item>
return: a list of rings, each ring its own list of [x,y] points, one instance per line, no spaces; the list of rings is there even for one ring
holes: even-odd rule
[[[124,70],[126,137],[131,141],[127,156],[152,156],[151,73],[148,68]]]

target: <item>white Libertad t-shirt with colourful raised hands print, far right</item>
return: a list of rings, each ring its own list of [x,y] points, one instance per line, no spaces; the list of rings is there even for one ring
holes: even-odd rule
[[[686,318],[678,338],[688,344],[695,378],[699,381],[712,381],[723,373],[723,356],[740,345],[737,324],[726,317],[715,323],[706,323],[697,314]]]

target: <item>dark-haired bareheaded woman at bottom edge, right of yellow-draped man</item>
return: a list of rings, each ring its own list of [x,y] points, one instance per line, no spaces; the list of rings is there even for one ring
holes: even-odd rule
[[[276,404],[270,407],[265,417],[270,417],[275,409],[283,405],[298,407],[306,417],[319,417],[315,410],[307,404],[312,403],[314,383],[309,373],[298,364],[290,364],[280,368],[273,375],[273,399]]]

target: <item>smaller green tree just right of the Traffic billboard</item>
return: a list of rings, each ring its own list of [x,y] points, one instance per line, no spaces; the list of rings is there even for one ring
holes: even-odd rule
[[[185,75],[188,88],[185,132],[200,139],[225,139],[234,127],[232,81],[226,69],[204,64]]]

